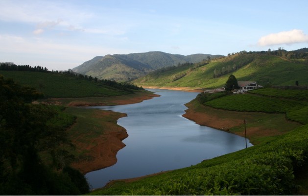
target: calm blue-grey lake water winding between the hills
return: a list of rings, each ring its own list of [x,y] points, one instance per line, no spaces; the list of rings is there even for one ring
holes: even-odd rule
[[[115,165],[86,174],[92,188],[103,187],[113,179],[189,167],[245,148],[245,138],[182,117],[187,109],[184,104],[198,93],[150,91],[161,97],[130,105],[95,107],[126,113],[118,124],[129,136],[123,140],[126,147],[118,151]],[[252,146],[249,141],[247,146]]]

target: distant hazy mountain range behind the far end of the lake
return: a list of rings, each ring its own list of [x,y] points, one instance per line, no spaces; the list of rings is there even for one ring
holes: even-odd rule
[[[177,66],[184,63],[196,63],[208,58],[213,59],[221,56],[211,54],[192,54],[185,56],[161,51],[114,54],[96,56],[80,66],[73,68],[72,71],[92,75],[99,79],[130,81],[159,68]]]

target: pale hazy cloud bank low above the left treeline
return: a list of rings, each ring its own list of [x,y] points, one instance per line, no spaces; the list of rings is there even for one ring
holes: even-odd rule
[[[20,65],[41,65],[49,70],[68,70],[98,55],[131,53],[129,49],[56,43],[44,38],[0,34],[0,59]],[[65,54],[65,55],[63,55]]]

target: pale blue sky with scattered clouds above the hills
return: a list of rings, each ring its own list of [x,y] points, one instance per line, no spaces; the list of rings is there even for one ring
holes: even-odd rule
[[[68,70],[95,56],[308,48],[308,0],[0,0],[0,62]]]

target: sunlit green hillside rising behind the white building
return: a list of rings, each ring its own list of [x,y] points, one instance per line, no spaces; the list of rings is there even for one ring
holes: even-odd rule
[[[238,81],[260,85],[308,85],[308,60],[303,54],[287,58],[268,52],[239,52],[193,65],[163,68],[133,81],[142,86],[219,88],[230,74]],[[286,56],[287,54],[284,54]],[[296,57],[296,58],[295,58]]]

